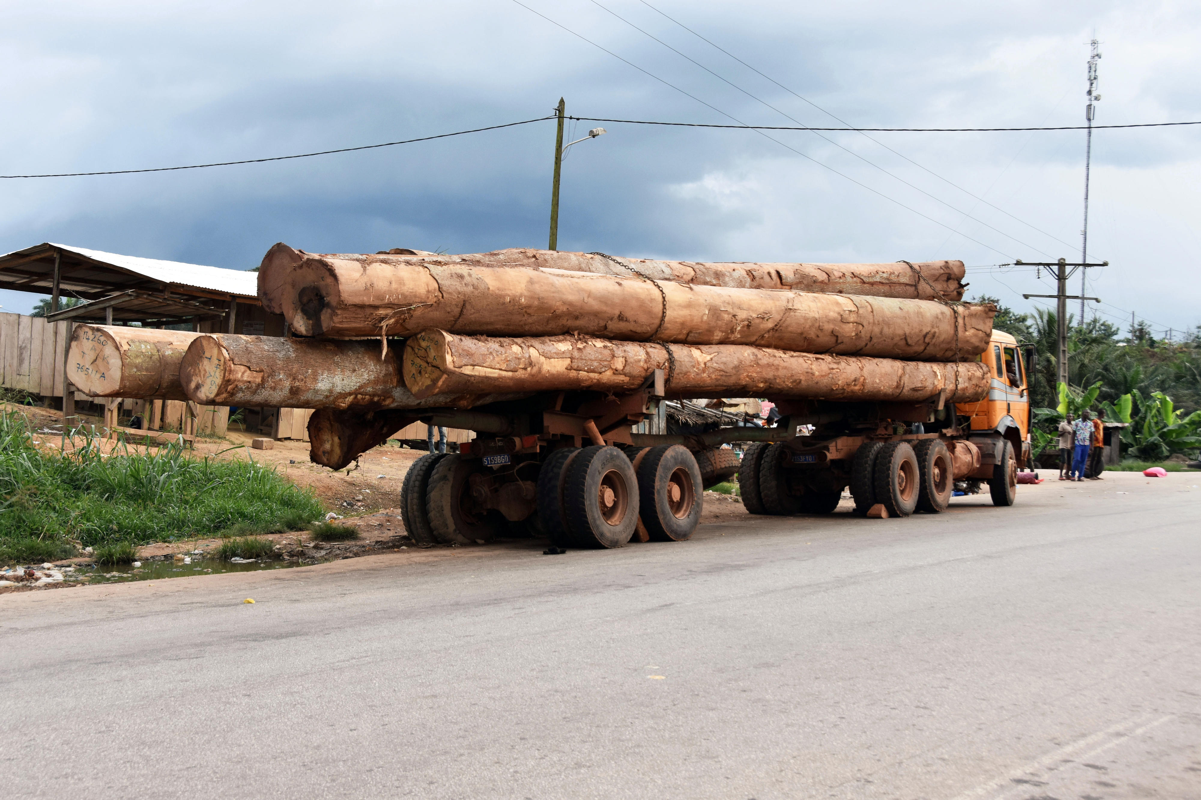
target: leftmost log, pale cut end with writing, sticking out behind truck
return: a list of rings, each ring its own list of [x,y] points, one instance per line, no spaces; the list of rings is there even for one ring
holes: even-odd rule
[[[77,324],[67,351],[67,380],[94,398],[187,400],[179,365],[198,335]]]

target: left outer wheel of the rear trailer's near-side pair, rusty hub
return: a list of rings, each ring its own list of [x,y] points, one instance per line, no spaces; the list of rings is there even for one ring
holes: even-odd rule
[[[638,525],[638,479],[626,454],[593,444],[567,471],[563,507],[578,547],[620,548]]]

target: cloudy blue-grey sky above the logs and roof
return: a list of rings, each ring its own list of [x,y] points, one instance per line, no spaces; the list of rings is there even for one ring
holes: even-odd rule
[[[543,117],[560,96],[569,114],[629,120],[1080,125],[1094,30],[1098,124],[1201,120],[1201,7],[1185,2],[521,4],[10,0],[0,174],[374,144]],[[1046,274],[994,265],[1080,258],[1082,131],[568,132],[598,124],[609,133],[563,165],[563,250],[961,258],[970,293],[1021,310],[1022,292],[1053,291]],[[0,251],[58,241],[246,269],[275,241],[545,246],[554,133],[540,121],[259,165],[4,179]],[[1105,318],[1201,323],[1199,143],[1201,126],[1094,133],[1088,255],[1110,267],[1088,293]],[[0,292],[6,311],[36,299]]]

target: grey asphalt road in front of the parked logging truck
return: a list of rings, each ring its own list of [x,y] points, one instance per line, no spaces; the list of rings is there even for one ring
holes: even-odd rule
[[[1009,509],[7,595],[0,786],[1195,799],[1194,484],[1111,473]]]

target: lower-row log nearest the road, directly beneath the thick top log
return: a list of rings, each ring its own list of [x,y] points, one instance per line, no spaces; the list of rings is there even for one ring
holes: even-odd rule
[[[670,348],[675,364],[668,358]],[[434,393],[633,392],[670,370],[667,394],[688,398],[806,398],[946,402],[988,394],[988,368],[861,356],[794,353],[745,345],[657,345],[585,336],[491,339],[426,330],[405,344],[405,383]]]

